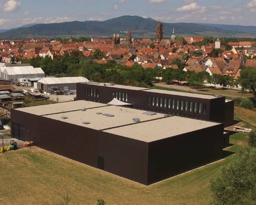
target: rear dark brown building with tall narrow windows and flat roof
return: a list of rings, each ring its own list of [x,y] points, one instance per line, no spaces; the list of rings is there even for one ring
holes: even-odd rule
[[[222,96],[121,86],[111,83],[79,83],[77,99],[108,103],[113,98],[132,108],[233,124],[234,102]]]

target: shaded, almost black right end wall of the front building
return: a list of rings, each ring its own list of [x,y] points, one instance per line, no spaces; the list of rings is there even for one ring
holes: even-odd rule
[[[149,143],[149,184],[222,158],[224,125]]]

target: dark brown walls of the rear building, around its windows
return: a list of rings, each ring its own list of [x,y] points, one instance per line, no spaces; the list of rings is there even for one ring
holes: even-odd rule
[[[85,88],[93,88],[93,89],[98,89],[98,98],[97,97],[89,97],[85,96]],[[146,89],[146,88],[145,88]],[[83,83],[78,83],[77,84],[77,100],[95,100],[98,102],[103,103],[108,103],[110,102],[113,97],[112,97],[112,92],[124,92],[128,93],[128,102],[133,104],[133,108],[136,109],[141,109],[141,110],[150,110],[154,112],[159,112],[159,113],[174,113],[175,115],[178,114],[180,116],[187,116],[191,118],[196,118],[196,119],[204,119],[204,120],[210,120],[214,122],[225,122],[225,97],[218,97],[215,99],[203,99],[203,98],[197,98],[197,97],[186,97],[186,96],[178,96],[178,95],[170,95],[170,94],[158,94],[158,93],[153,93],[153,92],[145,92],[145,91],[136,91],[136,90],[129,90],[129,89],[118,89],[114,88],[111,86],[97,86],[93,84],[83,84]],[[149,105],[148,103],[148,97],[159,97],[160,98],[166,98],[166,99],[171,99],[175,100],[175,109],[169,109],[167,108],[160,108],[160,106],[152,106]],[[183,111],[176,110],[176,100],[183,100]],[[190,112],[185,111],[185,101],[188,101],[188,106],[189,102],[192,103],[192,109],[193,111]],[[197,113],[194,112],[194,102],[197,102]],[[199,113],[199,103],[205,104],[206,105],[206,114]]]

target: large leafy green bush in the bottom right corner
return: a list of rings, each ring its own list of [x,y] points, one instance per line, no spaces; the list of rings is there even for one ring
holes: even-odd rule
[[[215,204],[256,203],[256,148],[245,147],[211,181]]]

